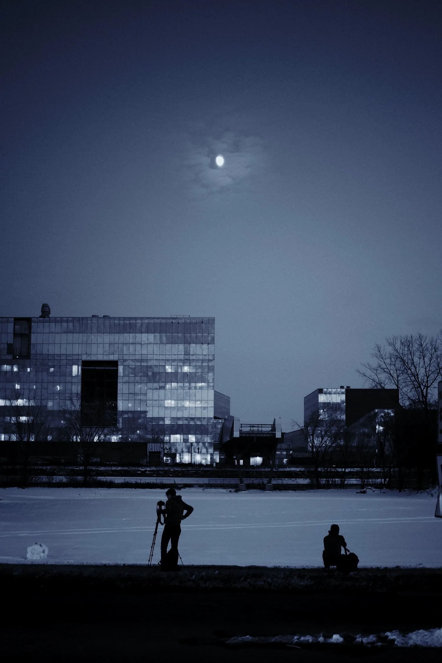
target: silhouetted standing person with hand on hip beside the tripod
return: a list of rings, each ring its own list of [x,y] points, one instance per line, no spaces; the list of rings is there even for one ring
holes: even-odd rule
[[[160,564],[163,571],[176,571],[178,568],[178,540],[181,534],[181,520],[189,518],[193,512],[193,507],[183,502],[181,495],[177,495],[173,488],[169,488],[166,497],[165,507],[161,508],[165,522],[163,535],[161,536]],[[169,541],[171,548],[167,552]]]

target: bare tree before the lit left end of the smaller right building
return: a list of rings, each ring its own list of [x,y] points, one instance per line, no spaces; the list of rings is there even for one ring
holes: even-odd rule
[[[331,454],[341,438],[345,421],[333,408],[328,410],[313,410],[301,426],[294,421],[302,431],[306,441],[312,464],[316,487],[320,488],[320,468],[328,465]]]

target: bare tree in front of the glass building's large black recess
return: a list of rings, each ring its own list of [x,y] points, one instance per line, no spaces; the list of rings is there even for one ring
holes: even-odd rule
[[[85,418],[81,410],[81,399],[77,394],[73,394],[72,398],[64,402],[64,410],[66,411],[66,430],[70,439],[77,442],[77,455],[82,466],[83,485],[87,486],[89,468],[92,458],[97,453],[97,445],[105,440],[111,440],[112,436],[117,434],[118,429],[106,424],[91,425],[93,416],[91,416],[90,409],[88,417]],[[96,420],[97,422],[101,420],[101,412],[97,411]]]

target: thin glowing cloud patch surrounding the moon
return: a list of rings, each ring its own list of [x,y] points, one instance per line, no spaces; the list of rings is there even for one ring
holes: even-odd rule
[[[253,179],[263,165],[263,141],[239,131],[207,135],[205,127],[189,133],[183,141],[183,171],[194,196],[236,190]],[[204,135],[205,134],[205,135]],[[222,154],[222,168],[216,156]]]

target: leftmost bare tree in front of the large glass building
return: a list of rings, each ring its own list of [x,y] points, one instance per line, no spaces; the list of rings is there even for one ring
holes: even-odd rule
[[[51,425],[48,406],[35,391],[13,389],[7,401],[7,416],[11,431],[18,443],[21,487],[27,488],[30,481],[30,457],[35,442],[47,438]]]

